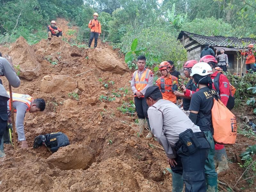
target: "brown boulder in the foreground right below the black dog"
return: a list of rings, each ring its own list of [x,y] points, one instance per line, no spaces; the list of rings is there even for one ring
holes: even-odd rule
[[[61,170],[87,169],[94,161],[94,150],[85,145],[68,145],[47,158],[50,168],[53,165]]]

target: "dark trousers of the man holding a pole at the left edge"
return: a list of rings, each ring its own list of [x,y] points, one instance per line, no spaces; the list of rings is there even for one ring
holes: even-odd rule
[[[9,98],[0,96],[0,145],[2,137],[7,129],[7,101]]]

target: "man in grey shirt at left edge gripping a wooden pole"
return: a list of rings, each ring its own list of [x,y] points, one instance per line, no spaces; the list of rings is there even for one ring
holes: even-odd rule
[[[9,55],[4,55],[4,57],[5,58],[3,58],[0,53],[0,77],[5,76],[11,86],[19,87],[20,78],[16,75],[12,64],[12,58]],[[2,84],[2,80],[0,79],[0,158],[5,156],[4,146],[1,140],[7,127],[7,101],[9,99],[10,97]]]

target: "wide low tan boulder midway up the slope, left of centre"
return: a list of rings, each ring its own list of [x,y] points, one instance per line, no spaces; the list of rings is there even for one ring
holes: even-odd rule
[[[53,93],[56,91],[73,91],[76,89],[76,80],[68,75],[47,75],[43,77],[41,82],[41,91],[45,93]]]

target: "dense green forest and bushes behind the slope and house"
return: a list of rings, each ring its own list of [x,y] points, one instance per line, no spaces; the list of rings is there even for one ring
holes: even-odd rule
[[[186,60],[186,51],[177,41],[181,30],[256,37],[254,0],[0,0],[0,44],[19,36],[35,44],[47,37],[46,27],[57,17],[78,26],[75,41],[87,44],[93,12],[99,13],[102,41],[126,53],[138,38],[136,50],[147,50],[151,63]]]

